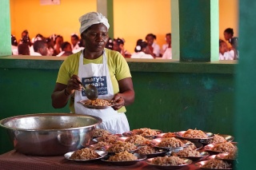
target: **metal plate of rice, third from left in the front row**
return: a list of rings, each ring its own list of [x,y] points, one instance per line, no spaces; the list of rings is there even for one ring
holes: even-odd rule
[[[146,160],[147,164],[161,169],[177,169],[191,164],[192,160],[186,158],[179,158],[178,156],[158,156]]]

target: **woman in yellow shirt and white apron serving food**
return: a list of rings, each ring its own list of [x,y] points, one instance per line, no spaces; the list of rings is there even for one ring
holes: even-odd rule
[[[85,49],[70,55],[62,63],[52,93],[52,105],[62,108],[70,99],[72,113],[102,118],[98,128],[113,129],[118,133],[129,131],[124,106],[134,102],[134,88],[127,62],[120,53],[104,48],[110,25],[102,14],[85,14],[79,22]],[[79,81],[84,86],[101,85],[98,98],[113,100],[115,105],[108,109],[86,109],[78,104],[78,101],[87,100]]]

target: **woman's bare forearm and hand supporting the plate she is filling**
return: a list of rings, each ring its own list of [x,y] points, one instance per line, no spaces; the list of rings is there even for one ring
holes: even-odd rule
[[[131,77],[124,78],[118,81],[119,93],[115,94],[113,101],[115,105],[113,108],[118,110],[124,105],[130,105],[134,102],[134,85]]]

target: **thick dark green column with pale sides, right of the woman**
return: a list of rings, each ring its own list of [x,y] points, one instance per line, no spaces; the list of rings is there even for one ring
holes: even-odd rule
[[[218,61],[218,1],[172,0],[172,48],[180,61]]]

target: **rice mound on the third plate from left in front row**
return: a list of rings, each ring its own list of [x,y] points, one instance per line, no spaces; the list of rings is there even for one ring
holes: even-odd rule
[[[161,166],[170,166],[170,165],[181,165],[186,164],[185,160],[179,158],[178,156],[164,156],[156,157],[152,160],[152,164],[157,164]]]

